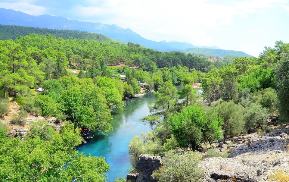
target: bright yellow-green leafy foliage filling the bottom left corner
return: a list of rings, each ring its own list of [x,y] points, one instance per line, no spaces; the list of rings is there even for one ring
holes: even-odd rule
[[[39,126],[40,127],[40,126]],[[38,128],[40,129],[40,128]],[[2,133],[2,130],[0,130]],[[5,131],[5,130],[4,130]],[[36,130],[34,130],[36,131]],[[40,131],[42,133],[42,131]],[[47,133],[46,133],[47,134]],[[46,135],[45,132],[41,136]],[[2,181],[104,181],[109,170],[104,158],[85,157],[75,147],[83,140],[72,124],[54,132],[50,140],[0,137]]]

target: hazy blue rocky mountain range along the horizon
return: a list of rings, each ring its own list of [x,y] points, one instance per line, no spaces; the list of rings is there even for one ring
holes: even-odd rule
[[[187,42],[177,41],[152,41],[143,38],[129,28],[122,28],[115,24],[108,25],[102,23],[85,22],[79,20],[69,20],[64,17],[56,17],[51,15],[33,16],[20,11],[0,8],[0,24],[3,25],[18,25],[28,27],[39,27],[59,30],[81,30],[90,33],[103,34],[111,39],[120,39],[124,42],[133,42],[142,46],[160,50],[160,51],[184,51],[188,48],[210,48],[219,49],[217,46],[194,46]],[[205,52],[205,51],[203,51]],[[242,56],[247,56],[245,52],[241,52]],[[206,53],[204,54],[206,55]],[[218,56],[218,55],[216,55]]]

